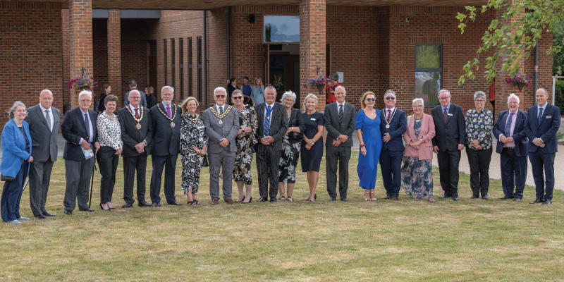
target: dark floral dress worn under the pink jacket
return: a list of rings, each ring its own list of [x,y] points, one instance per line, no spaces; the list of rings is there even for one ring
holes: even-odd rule
[[[413,130],[419,139],[423,118],[417,119],[415,116]],[[431,173],[431,160],[419,159],[419,157],[405,157],[401,168],[401,183],[405,194],[414,199],[425,199],[433,197],[433,175]]]

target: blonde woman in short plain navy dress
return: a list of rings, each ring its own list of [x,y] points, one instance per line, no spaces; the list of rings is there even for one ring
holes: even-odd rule
[[[305,200],[315,200],[315,188],[319,181],[319,164],[323,158],[323,114],[315,111],[317,96],[307,94],[303,102],[302,114],[305,123],[304,139],[302,140],[302,172],[307,173],[307,184],[309,185],[309,197]]]

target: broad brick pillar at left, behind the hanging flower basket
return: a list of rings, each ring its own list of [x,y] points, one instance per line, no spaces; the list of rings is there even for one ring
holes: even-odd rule
[[[85,69],[85,76],[92,76],[92,0],[68,1],[68,25],[71,49],[69,79],[81,75],[82,68]],[[78,97],[76,93],[71,93],[71,97],[71,106],[74,108]]]

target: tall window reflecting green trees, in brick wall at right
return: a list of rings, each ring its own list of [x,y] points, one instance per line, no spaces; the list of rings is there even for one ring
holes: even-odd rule
[[[443,84],[443,52],[441,44],[415,44],[415,98],[423,98],[425,106],[439,104],[437,95]]]

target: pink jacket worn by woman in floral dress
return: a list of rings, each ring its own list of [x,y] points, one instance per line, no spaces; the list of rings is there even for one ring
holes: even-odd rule
[[[421,130],[419,131],[419,139],[425,140],[424,143],[419,145],[419,149],[409,146],[410,142],[417,142],[419,139],[415,136],[415,116],[410,117],[410,124],[407,125],[407,130],[403,133],[403,140],[405,140],[405,157],[419,157],[419,159],[433,159],[433,137],[435,137],[435,123],[433,117],[428,114],[423,114],[423,121],[421,123]]]

